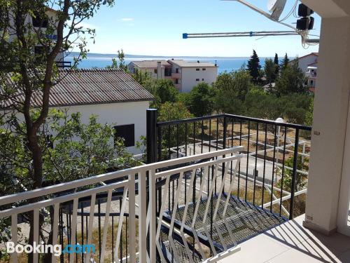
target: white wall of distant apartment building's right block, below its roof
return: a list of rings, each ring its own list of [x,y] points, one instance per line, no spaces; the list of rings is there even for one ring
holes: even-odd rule
[[[203,70],[204,68],[206,69],[205,71]],[[196,69],[200,69],[200,71]],[[188,93],[201,82],[211,84],[216,81],[217,76],[217,67],[183,67],[181,69],[181,81],[179,81],[181,83],[181,92]],[[196,81],[196,79],[200,79],[200,81]]]

